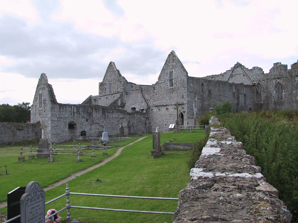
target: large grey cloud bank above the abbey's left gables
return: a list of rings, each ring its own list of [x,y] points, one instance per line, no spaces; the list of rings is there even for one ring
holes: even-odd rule
[[[70,22],[48,21],[29,27],[21,18],[0,18],[0,55],[16,60],[12,65],[2,64],[3,72],[26,77],[44,72],[51,78],[102,78],[108,65],[103,58],[119,48],[124,53],[112,60],[122,74],[156,73],[169,53],[154,49],[152,39],[126,43],[118,37],[79,32]]]

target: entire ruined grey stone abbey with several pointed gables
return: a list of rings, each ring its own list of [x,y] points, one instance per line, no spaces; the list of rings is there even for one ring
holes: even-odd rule
[[[236,63],[230,70],[191,77],[172,51],[152,85],[128,82],[110,62],[96,96],[78,105],[57,102],[47,76],[41,74],[31,109],[31,123],[40,122],[45,138],[62,142],[82,136],[100,137],[102,124],[109,135],[151,133],[170,124],[196,125],[206,111],[222,102],[233,110],[298,109],[298,62],[274,63],[269,73]]]

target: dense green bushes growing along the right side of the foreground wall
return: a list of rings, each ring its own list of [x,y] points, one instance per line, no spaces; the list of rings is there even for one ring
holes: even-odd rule
[[[298,222],[298,111],[236,113],[224,125],[254,156]]]

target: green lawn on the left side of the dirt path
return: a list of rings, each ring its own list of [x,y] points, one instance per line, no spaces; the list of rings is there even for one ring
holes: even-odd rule
[[[121,145],[129,144],[139,138],[140,136],[133,137],[132,140],[121,142]],[[48,158],[28,160],[28,154],[24,156],[25,162],[18,163],[20,147],[0,147],[0,166],[6,165],[8,172],[8,175],[0,173],[0,202],[6,201],[7,193],[18,186],[26,186],[30,181],[37,181],[41,188],[45,188],[74,172],[100,163],[103,159],[112,156],[118,148],[107,150],[108,155],[102,155],[103,151],[95,152],[97,157],[92,158],[91,153],[81,155],[80,163],[75,162],[76,155],[54,155],[55,162],[48,163]]]

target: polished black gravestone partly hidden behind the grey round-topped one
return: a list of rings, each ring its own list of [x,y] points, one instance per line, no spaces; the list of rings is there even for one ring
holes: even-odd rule
[[[7,193],[7,220],[18,216],[20,213],[20,199],[25,193],[26,187],[17,187]],[[17,218],[11,223],[20,223],[20,218]]]

